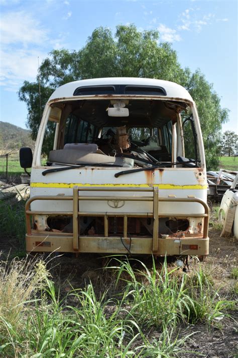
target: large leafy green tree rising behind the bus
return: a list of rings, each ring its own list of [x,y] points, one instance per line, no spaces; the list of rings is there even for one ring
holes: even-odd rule
[[[198,107],[207,167],[218,165],[216,149],[221,124],[227,120],[228,110],[220,107],[218,95],[199,70],[192,74],[188,68],[181,67],[171,45],[159,42],[158,31],[140,32],[135,25],[119,25],[113,37],[110,29],[99,27],[78,51],[63,49],[50,52],[39,69],[41,111],[55,88],[70,81],[101,77],[148,77],[176,82],[185,87]],[[27,103],[28,127],[35,139],[41,117],[38,81],[25,81],[19,98]],[[51,132],[49,126],[49,140]],[[47,146],[44,145],[43,151],[48,152]]]

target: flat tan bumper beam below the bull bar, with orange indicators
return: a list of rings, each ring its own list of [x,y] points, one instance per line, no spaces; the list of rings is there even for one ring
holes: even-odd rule
[[[48,233],[46,233],[48,234]],[[208,255],[209,238],[158,238],[158,250],[153,252],[153,238],[121,238],[83,236],[78,239],[78,250],[73,247],[73,235],[49,233],[26,235],[28,252],[81,252],[105,254]],[[195,249],[189,249],[192,246]],[[197,246],[197,249],[196,249]]]

